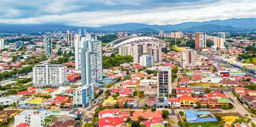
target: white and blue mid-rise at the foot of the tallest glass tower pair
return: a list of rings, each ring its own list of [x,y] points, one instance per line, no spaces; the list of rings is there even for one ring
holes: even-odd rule
[[[87,107],[94,100],[94,85],[86,84],[73,90],[73,107]]]

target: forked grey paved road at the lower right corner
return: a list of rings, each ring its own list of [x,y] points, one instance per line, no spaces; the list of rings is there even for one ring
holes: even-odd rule
[[[238,102],[237,98],[234,97],[232,95],[231,92],[226,92],[224,91],[224,94],[228,97],[228,98],[231,98],[231,103],[235,106],[235,109],[234,110],[223,110],[223,112],[239,112],[240,114],[242,115],[245,115],[247,114],[249,118],[252,119],[252,122],[255,123],[256,122],[256,119],[254,117],[251,117],[251,112],[248,112],[246,109],[244,109],[244,107],[242,107],[242,104]]]

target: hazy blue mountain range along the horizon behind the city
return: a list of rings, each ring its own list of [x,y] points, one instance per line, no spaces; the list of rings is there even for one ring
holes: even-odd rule
[[[256,18],[231,18],[225,20],[210,20],[205,22],[186,22],[175,25],[147,25],[140,23],[115,24],[100,27],[69,26],[62,24],[3,24],[0,31],[65,31],[86,29],[88,32],[116,32],[126,30],[132,32],[158,32],[164,31],[241,31],[255,30]]]

